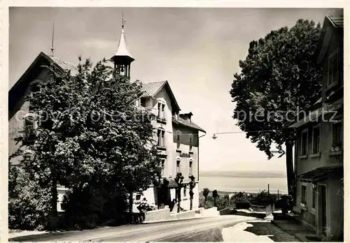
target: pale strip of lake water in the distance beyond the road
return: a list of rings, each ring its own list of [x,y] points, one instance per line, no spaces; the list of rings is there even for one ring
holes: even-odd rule
[[[270,193],[287,193],[287,179],[279,178],[246,178],[246,177],[201,177],[199,189],[202,191],[208,188],[210,191],[245,191],[248,193],[256,193],[267,190],[269,184]]]

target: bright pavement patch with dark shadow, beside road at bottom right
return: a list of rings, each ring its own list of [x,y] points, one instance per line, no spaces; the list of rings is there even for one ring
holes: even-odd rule
[[[248,221],[223,228],[224,242],[298,242],[269,221]]]

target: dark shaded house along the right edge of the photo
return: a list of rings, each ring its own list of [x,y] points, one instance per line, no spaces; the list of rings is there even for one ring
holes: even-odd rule
[[[342,239],[344,223],[343,17],[326,16],[318,63],[323,67],[321,98],[291,124],[296,128],[296,198],[300,217],[318,235]]]

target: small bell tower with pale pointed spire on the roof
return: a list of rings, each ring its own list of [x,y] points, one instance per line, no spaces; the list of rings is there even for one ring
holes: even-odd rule
[[[127,50],[127,42],[124,34],[125,18],[122,17],[122,33],[120,34],[118,50],[113,55],[111,60],[114,63],[114,68],[117,73],[130,78],[130,65],[135,59],[132,57],[130,52]]]

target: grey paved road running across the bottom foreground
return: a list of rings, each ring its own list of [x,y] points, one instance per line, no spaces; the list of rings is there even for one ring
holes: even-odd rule
[[[246,216],[216,216],[162,223],[106,227],[94,230],[48,233],[17,237],[9,241],[26,242],[222,242],[221,230],[236,223],[255,220]]]

